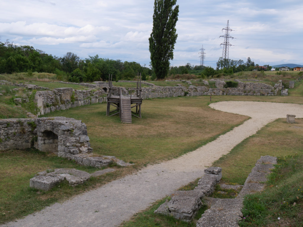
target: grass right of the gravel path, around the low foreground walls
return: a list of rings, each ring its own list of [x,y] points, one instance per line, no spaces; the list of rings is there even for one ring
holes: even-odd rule
[[[243,184],[256,161],[260,156],[265,155],[280,156],[281,162],[268,182],[268,189],[264,193],[248,196],[248,199],[245,200],[245,207],[242,210],[245,219],[240,223],[240,226],[302,226],[303,119],[296,119],[296,124],[288,124],[285,119],[269,123],[258,133],[238,144],[230,153],[213,163],[213,166],[222,168],[221,181],[230,184]],[[285,156],[294,157],[285,158]],[[286,163],[285,160],[287,160]],[[195,186],[197,186],[197,181],[181,188],[181,190],[193,189]],[[191,223],[154,214],[153,212],[164,201],[165,198],[155,202],[153,206],[134,215],[130,221],[124,222],[121,226],[196,226],[195,222],[201,217],[201,213],[196,215]],[[294,202],[297,203],[296,206],[292,206]],[[205,207],[202,207],[201,212],[204,210]],[[282,220],[277,222],[278,217],[283,218],[283,222]]]

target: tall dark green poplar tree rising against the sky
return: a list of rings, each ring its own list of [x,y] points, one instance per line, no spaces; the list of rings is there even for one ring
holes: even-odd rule
[[[149,40],[151,66],[157,78],[166,77],[169,70],[169,60],[174,58],[174,47],[178,37],[176,23],[179,6],[177,0],[155,0],[153,29]]]

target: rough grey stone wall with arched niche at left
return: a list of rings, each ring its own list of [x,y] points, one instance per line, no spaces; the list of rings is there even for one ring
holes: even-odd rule
[[[92,152],[85,123],[73,118],[1,119],[0,138],[0,150],[35,147],[69,159]]]

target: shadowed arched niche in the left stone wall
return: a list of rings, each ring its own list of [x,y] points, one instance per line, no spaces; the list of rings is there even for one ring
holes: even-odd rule
[[[58,135],[52,131],[45,130],[38,134],[38,147],[43,152],[58,152]]]

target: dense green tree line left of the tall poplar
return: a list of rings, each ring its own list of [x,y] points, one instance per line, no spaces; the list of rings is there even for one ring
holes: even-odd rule
[[[113,74],[114,80],[132,80],[137,73],[142,80],[151,76],[151,69],[137,62],[99,58],[98,55],[80,59],[77,54],[66,53],[63,57],[52,56],[32,46],[17,46],[0,42],[0,73],[47,72],[67,78],[72,82],[92,82],[108,80]]]

